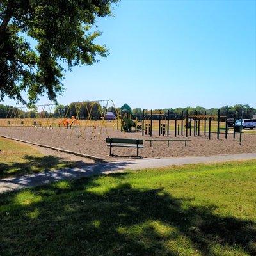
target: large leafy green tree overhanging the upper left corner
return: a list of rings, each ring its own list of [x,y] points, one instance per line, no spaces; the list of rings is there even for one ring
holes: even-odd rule
[[[116,1],[0,0],[0,101],[7,96],[35,104],[43,93],[56,101],[65,63],[71,69],[107,56],[106,47],[95,43],[95,21],[111,15]]]

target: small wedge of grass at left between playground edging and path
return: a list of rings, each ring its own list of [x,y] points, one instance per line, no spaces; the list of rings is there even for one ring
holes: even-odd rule
[[[60,157],[44,155],[35,147],[0,138],[0,178],[71,167]]]

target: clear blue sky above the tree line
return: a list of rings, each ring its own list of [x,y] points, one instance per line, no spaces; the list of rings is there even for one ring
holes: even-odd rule
[[[256,1],[123,0],[113,12],[97,22],[108,58],[67,72],[60,104],[256,107]]]

